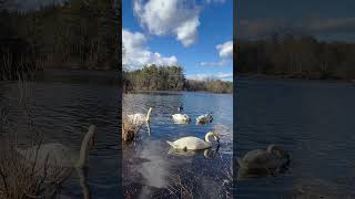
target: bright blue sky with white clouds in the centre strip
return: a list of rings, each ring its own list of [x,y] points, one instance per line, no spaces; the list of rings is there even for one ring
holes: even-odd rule
[[[233,0],[122,3],[125,65],[179,63],[187,78],[233,80]]]

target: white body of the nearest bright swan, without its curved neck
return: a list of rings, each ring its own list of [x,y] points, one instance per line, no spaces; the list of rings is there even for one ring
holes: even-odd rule
[[[211,144],[197,137],[183,137],[171,143],[171,146],[178,149],[200,150],[200,149],[210,148]]]

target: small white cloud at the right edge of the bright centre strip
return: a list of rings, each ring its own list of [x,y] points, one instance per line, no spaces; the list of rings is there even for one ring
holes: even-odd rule
[[[219,51],[220,61],[219,62],[200,62],[200,66],[224,66],[230,64],[233,60],[233,41],[227,41],[217,44],[215,49]]]

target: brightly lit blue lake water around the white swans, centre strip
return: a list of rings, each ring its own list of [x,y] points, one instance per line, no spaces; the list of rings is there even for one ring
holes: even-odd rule
[[[144,127],[132,145],[123,145],[122,185],[126,198],[231,198],[229,181],[233,150],[233,95],[211,93],[136,93],[124,96],[124,114],[146,113],[152,107],[150,134]],[[187,114],[190,124],[178,125],[172,114]],[[196,125],[199,115],[210,113],[213,122]],[[166,140],[185,136],[204,139],[207,132],[220,134],[220,147],[196,154],[174,154]],[[180,190],[182,189],[182,191]],[[178,191],[176,191],[178,190]]]

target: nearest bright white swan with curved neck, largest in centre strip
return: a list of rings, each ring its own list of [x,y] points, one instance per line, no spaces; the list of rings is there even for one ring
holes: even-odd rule
[[[201,150],[212,147],[212,143],[210,142],[210,137],[213,136],[214,140],[220,142],[220,138],[212,132],[209,132],[204,139],[202,140],[197,137],[183,137],[175,142],[166,142],[173,148],[183,149],[183,150]]]

